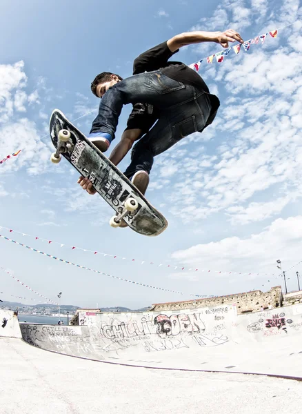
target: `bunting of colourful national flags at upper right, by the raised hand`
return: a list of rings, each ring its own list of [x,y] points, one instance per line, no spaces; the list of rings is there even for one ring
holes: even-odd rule
[[[270,34],[270,37],[272,37],[273,39],[275,39],[277,37],[277,34],[279,32],[279,30],[282,30],[284,28],[287,28],[288,26],[292,26],[294,23],[296,23],[297,21],[300,20],[296,20],[293,23],[290,23],[286,26],[283,26],[282,28],[278,28],[275,30],[272,30],[268,33],[264,33],[261,34],[260,36],[256,36],[254,37],[254,39],[249,39],[244,41],[242,44],[238,43],[235,46],[230,46],[230,48],[226,48],[220,52],[215,53],[214,55],[208,56],[208,57],[204,57],[203,59],[200,59],[199,61],[196,61],[194,63],[191,63],[189,66],[189,68],[196,70],[197,72],[199,71],[199,68],[201,66],[201,63],[203,61],[207,61],[208,63],[212,63],[214,60],[214,57],[216,57],[216,60],[218,63],[222,63],[223,59],[225,56],[228,56],[228,54],[230,53],[231,50],[234,50],[234,52],[236,53],[236,55],[239,54],[241,47],[243,47],[243,49],[245,50],[245,52],[248,52],[248,50],[250,50],[250,46],[252,44],[256,45],[259,43],[259,41],[261,41],[261,43],[263,44],[265,42],[266,37],[268,36],[268,34]]]

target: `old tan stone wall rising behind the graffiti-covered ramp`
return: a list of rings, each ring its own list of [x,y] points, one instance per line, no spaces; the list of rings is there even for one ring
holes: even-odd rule
[[[267,309],[282,306],[281,286],[271,288],[268,292],[253,290],[246,293],[235,293],[234,295],[206,297],[204,299],[187,300],[183,302],[168,302],[165,304],[153,304],[150,311],[179,311],[181,309],[203,308],[208,306],[234,305],[237,313],[259,312],[261,306]]]

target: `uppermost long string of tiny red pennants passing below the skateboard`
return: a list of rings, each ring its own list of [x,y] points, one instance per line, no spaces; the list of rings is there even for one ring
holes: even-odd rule
[[[61,248],[65,247],[71,250],[82,250],[83,252],[87,252],[87,253],[93,253],[93,255],[102,255],[103,257],[108,257],[111,259],[115,259],[115,260],[127,260],[128,262],[132,262],[134,264],[141,264],[141,265],[152,265],[154,267],[161,267],[161,268],[168,268],[170,269],[174,269],[174,270],[181,270],[181,271],[185,271],[185,272],[205,272],[205,273],[218,273],[218,274],[230,274],[230,275],[263,275],[263,276],[274,276],[274,273],[256,273],[256,272],[232,272],[232,271],[228,271],[228,270],[209,270],[209,269],[202,269],[202,268],[189,268],[187,266],[183,266],[183,265],[178,265],[176,266],[175,264],[157,264],[156,262],[149,262],[148,260],[141,260],[141,259],[135,259],[135,258],[128,258],[128,257],[122,257],[122,256],[118,256],[118,255],[112,255],[110,253],[102,253],[99,252],[97,250],[89,250],[87,248],[81,248],[81,247],[77,247],[77,246],[70,246],[68,244],[63,244],[63,243],[59,243],[59,242],[53,242],[50,239],[43,239],[42,237],[38,237],[38,236],[32,236],[32,235],[28,235],[27,233],[22,233],[16,230],[12,230],[12,228],[7,228],[7,227],[3,227],[0,226],[0,229],[3,230],[8,230],[9,233],[17,233],[19,235],[22,236],[28,236],[28,237],[32,237],[35,240],[40,240],[41,242],[46,242],[48,244],[59,244]]]

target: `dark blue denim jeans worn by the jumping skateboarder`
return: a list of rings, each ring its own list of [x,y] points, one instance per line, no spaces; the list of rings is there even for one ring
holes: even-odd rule
[[[211,110],[205,92],[155,70],[124,79],[108,89],[90,132],[108,132],[114,138],[123,105],[137,102],[156,106],[160,116],[134,145],[126,177],[132,177],[138,170],[150,173],[154,157],[193,132],[201,132]]]

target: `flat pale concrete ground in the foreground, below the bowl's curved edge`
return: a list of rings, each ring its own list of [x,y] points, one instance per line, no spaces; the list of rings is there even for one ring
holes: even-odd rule
[[[294,380],[106,364],[6,337],[0,366],[1,414],[292,414],[302,406]]]

